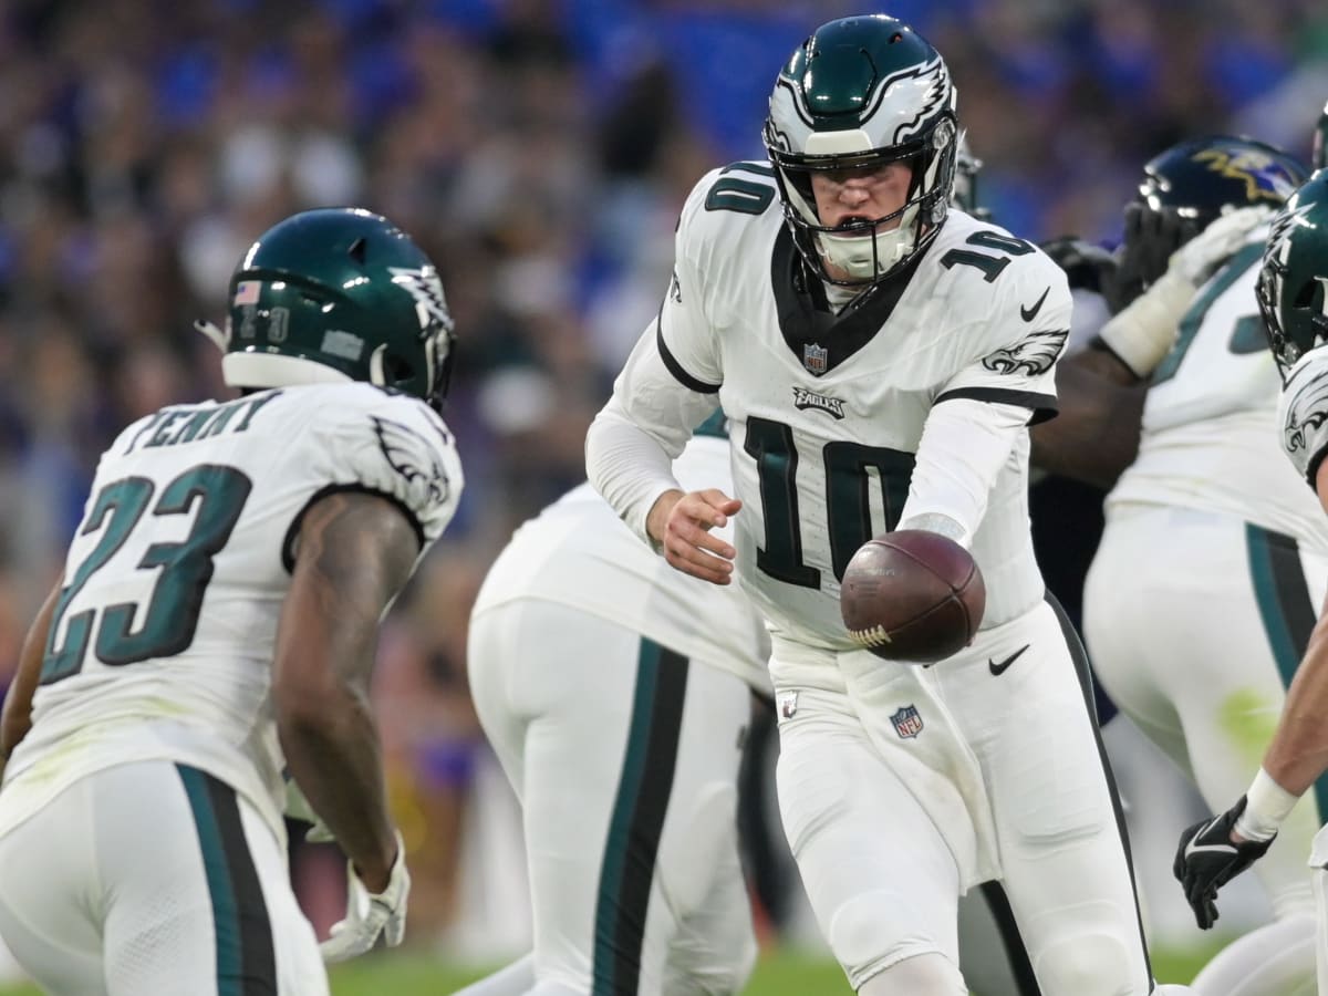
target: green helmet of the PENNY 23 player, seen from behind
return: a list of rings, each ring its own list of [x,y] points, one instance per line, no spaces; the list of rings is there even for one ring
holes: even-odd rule
[[[452,313],[438,271],[382,215],[319,208],[263,232],[230,283],[220,348],[232,388],[368,381],[442,408]]]

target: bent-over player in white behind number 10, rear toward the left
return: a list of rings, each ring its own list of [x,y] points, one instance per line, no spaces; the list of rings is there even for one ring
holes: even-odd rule
[[[675,470],[728,479],[722,420]],[[756,938],[737,782],[768,643],[737,588],[671,568],[590,485],[517,530],[467,657],[522,802],[535,947],[465,996],[742,991]]]

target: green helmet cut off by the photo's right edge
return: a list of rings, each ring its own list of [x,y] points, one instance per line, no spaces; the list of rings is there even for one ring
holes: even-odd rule
[[[1328,343],[1328,170],[1311,177],[1274,219],[1258,296],[1283,374]]]

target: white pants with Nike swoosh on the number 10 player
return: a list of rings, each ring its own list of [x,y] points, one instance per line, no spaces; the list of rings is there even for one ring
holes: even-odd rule
[[[973,777],[1042,996],[1151,991],[1086,661],[1052,604],[979,632],[931,668],[839,653],[819,668],[821,688],[810,687],[815,655],[781,660],[789,651],[777,641],[772,660],[780,809],[817,922],[855,988],[940,955],[951,975],[936,991],[963,991],[954,847],[983,834],[932,814],[938,791]]]

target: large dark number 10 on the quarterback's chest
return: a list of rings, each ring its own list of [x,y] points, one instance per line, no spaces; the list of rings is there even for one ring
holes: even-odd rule
[[[819,588],[821,571],[802,560],[802,523],[798,517],[798,452],[793,429],[769,418],[749,418],[742,449],[756,461],[761,483],[765,547],[756,552],[757,567],[788,584]],[[880,481],[886,529],[894,529],[908,497],[914,454],[858,442],[827,442],[821,450],[826,471],[826,523],[830,562],[837,579],[871,537],[871,478]],[[875,471],[875,474],[870,473]]]

